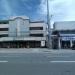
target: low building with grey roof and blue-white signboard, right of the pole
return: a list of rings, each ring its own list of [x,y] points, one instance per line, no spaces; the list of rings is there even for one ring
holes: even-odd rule
[[[55,22],[53,48],[70,49],[75,44],[75,21]]]

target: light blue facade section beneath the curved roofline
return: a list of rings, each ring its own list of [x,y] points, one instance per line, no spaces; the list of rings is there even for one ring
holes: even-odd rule
[[[16,19],[9,21],[9,36],[28,36],[29,35],[29,20]]]

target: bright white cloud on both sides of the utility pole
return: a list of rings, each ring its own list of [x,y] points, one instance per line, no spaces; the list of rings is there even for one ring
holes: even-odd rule
[[[74,0],[49,0],[50,14],[54,15],[53,20],[75,20],[75,1]],[[38,13],[46,16],[46,0],[41,0]]]

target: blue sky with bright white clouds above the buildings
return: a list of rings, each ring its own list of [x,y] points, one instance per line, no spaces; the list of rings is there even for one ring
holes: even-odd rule
[[[46,20],[47,0],[0,0],[0,19],[28,16],[31,20]],[[49,0],[53,21],[75,21],[75,0]]]

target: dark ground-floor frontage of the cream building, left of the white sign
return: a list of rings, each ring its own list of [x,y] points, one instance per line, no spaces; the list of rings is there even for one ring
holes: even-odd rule
[[[41,41],[0,42],[0,48],[41,48]]]

